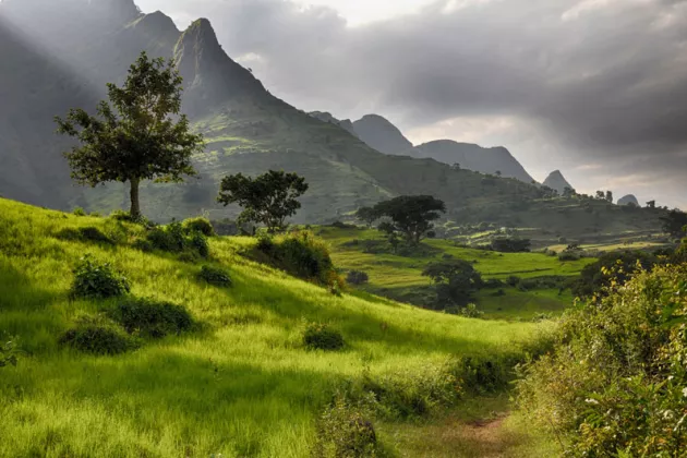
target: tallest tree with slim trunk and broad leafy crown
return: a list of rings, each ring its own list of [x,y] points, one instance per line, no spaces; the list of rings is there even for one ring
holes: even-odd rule
[[[55,120],[58,133],[81,143],[64,153],[72,178],[93,188],[129,182],[130,213],[138,218],[141,182],[181,182],[184,174],[195,176],[191,156],[203,150],[203,136],[192,134],[186,117],[179,116],[182,80],[171,60],[142,52],[124,85],[109,83],[107,88],[109,103],[100,101],[97,116],[79,108]]]

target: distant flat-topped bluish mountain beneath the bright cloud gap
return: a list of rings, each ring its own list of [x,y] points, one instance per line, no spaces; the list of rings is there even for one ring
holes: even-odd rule
[[[482,173],[501,174],[515,178],[525,183],[534,179],[525,170],[515,157],[503,146],[483,148],[470,143],[451,140],[438,140],[417,147],[420,157],[431,157],[444,164],[458,164],[461,168]]]

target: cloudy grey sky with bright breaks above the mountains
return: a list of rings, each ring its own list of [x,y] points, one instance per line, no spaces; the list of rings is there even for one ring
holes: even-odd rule
[[[415,144],[506,146],[543,181],[687,208],[687,0],[138,0],[207,17],[269,91]]]

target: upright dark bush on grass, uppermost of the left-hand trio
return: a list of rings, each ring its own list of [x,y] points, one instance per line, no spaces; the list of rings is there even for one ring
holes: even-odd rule
[[[129,280],[112,269],[109,263],[85,255],[73,270],[72,298],[106,299],[129,293]]]

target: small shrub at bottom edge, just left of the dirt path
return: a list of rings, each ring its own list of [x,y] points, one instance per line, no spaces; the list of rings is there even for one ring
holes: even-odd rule
[[[377,456],[377,435],[370,413],[337,397],[317,421],[313,456],[317,458],[366,458]]]

